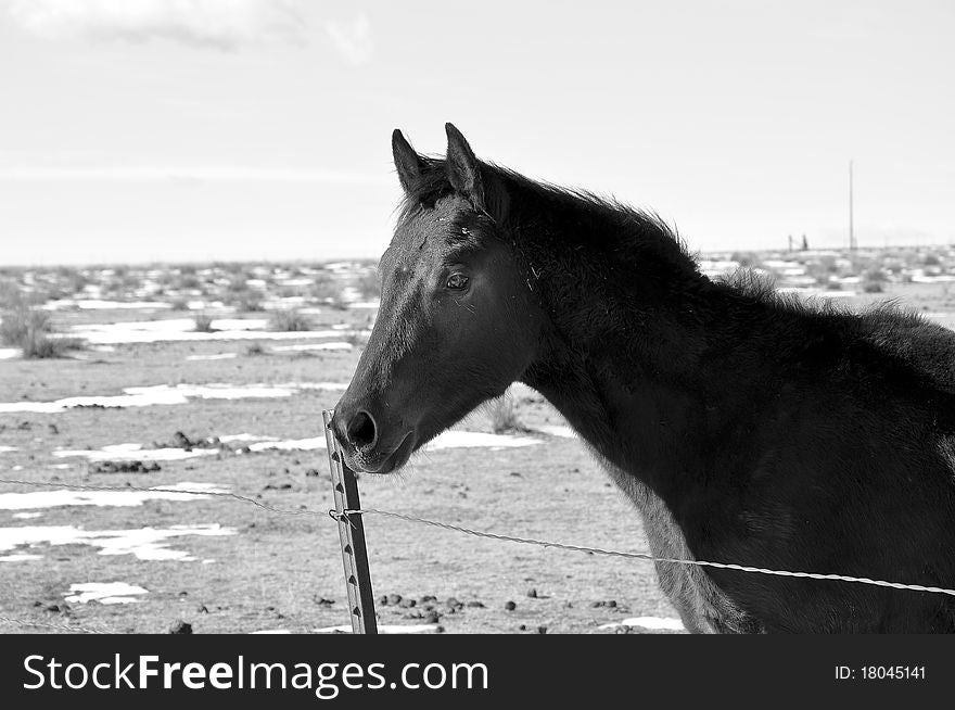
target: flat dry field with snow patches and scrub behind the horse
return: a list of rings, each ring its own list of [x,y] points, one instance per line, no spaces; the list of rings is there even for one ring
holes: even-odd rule
[[[701,266],[713,276],[753,267],[780,289],[850,308],[895,299],[955,324],[947,248],[717,254]],[[39,334],[0,343],[0,478],[51,484],[0,483],[0,630],[17,631],[11,620],[48,624],[33,631],[124,633],[182,623],[195,633],[300,633],[347,623],[338,530],[326,515],[321,410],[341,395],[367,340],[373,267],[7,269],[0,299],[0,334],[26,314],[44,314]],[[30,337],[62,347],[28,357]],[[510,401],[510,427],[501,430],[499,406],[487,407],[402,474],[362,477],[362,504],[645,550],[635,512],[560,416],[526,388],[513,388]],[[219,495],[138,491],[152,487],[231,492],[286,512]],[[368,517],[366,528],[386,626],[682,629],[649,562],[381,517]]]

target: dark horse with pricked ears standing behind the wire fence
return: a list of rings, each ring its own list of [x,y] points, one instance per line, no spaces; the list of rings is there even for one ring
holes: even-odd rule
[[[710,279],[659,217],[392,136],[404,191],[331,422],[386,474],[513,382],[566,419],[655,557],[955,587],[955,332]],[[700,633],[952,633],[955,597],[658,562]]]

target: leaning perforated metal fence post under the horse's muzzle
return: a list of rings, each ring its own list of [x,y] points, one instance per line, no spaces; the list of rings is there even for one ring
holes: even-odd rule
[[[358,481],[342,457],[339,442],[331,429],[334,411],[321,413],[324,422],[324,436],[328,442],[329,468],[332,473],[332,489],[338,511],[339,536],[342,542],[342,562],[345,568],[345,588],[348,592],[348,614],[352,619],[352,633],[378,634],[378,620],[374,617],[374,596],[371,592],[371,572],[368,569],[368,550],[365,547],[365,523],[362,516],[345,517],[345,510],[360,510]]]

